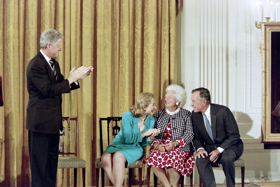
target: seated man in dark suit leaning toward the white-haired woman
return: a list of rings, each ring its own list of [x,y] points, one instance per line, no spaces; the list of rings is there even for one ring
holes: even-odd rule
[[[237,123],[229,108],[211,103],[206,88],[192,90],[196,166],[203,186],[216,187],[212,164],[223,165],[227,187],[235,185],[234,161],[243,153]]]

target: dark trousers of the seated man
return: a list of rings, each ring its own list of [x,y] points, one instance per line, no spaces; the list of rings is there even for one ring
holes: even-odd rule
[[[208,152],[208,151],[207,151]],[[208,154],[211,151],[208,152]],[[235,167],[234,161],[238,159],[238,155],[231,148],[227,148],[219,156],[218,160],[213,163],[209,160],[210,155],[205,156],[205,158],[196,159],[196,166],[199,173],[199,177],[205,187],[216,187],[215,176],[213,172],[212,165],[216,165],[220,162],[223,165],[223,171],[225,173],[225,178],[227,182],[227,187],[235,186]]]

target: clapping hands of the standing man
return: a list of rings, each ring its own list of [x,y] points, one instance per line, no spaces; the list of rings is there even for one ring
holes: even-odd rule
[[[73,69],[70,71],[69,74],[69,78],[68,81],[69,83],[73,83],[77,80],[83,79],[87,76],[89,76],[91,74],[91,72],[93,71],[93,67],[89,66],[89,67],[85,67],[85,66],[81,66],[78,69],[76,69],[76,66],[73,67]]]

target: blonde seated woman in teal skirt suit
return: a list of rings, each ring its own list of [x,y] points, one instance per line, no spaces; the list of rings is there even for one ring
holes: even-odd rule
[[[122,186],[125,167],[144,156],[143,147],[152,143],[160,129],[154,129],[155,111],[153,93],[143,92],[135,105],[122,115],[121,130],[101,156],[101,163],[114,186]]]

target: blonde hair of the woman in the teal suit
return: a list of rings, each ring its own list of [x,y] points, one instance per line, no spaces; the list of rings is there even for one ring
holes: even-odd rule
[[[150,92],[143,92],[140,93],[139,96],[136,98],[135,105],[130,107],[130,112],[134,115],[134,117],[140,117],[145,115],[145,110],[148,105],[152,102],[154,98],[154,94]]]

